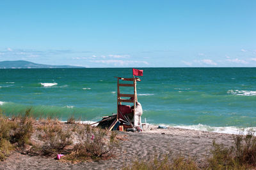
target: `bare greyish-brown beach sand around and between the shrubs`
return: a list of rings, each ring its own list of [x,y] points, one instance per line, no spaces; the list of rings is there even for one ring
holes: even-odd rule
[[[0,169],[122,169],[134,159],[148,160],[152,157],[163,157],[170,152],[173,155],[194,157],[198,164],[202,164],[210,154],[213,140],[226,146],[230,146],[233,142],[230,134],[174,127],[157,129],[156,125],[150,125],[144,130],[143,132],[118,132],[126,140],[121,141],[122,145],[113,159],[71,164],[52,157],[30,157],[13,152],[8,159],[0,162]]]

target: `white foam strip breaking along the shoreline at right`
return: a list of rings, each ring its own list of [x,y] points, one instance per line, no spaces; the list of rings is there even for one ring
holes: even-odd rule
[[[247,134],[248,131],[253,130],[256,131],[256,127],[246,127],[239,128],[234,126],[228,127],[211,127],[209,125],[173,125],[173,127],[179,127],[181,129],[191,129],[197,131],[208,131],[208,132],[218,132],[224,134]]]

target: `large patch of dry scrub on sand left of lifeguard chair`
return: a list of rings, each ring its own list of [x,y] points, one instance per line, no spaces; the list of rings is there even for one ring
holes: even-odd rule
[[[51,118],[38,122],[30,112],[31,108],[12,118],[0,115],[0,160],[19,150],[31,156],[64,153],[64,160],[84,162],[109,159],[118,147],[116,132],[84,124],[65,125]],[[77,143],[72,145],[74,137]]]

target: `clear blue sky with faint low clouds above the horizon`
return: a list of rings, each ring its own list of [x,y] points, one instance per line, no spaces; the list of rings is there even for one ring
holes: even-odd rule
[[[0,61],[256,67],[256,1],[0,1]]]

